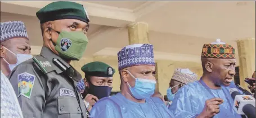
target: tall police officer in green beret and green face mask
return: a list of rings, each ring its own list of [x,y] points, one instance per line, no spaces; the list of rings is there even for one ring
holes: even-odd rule
[[[41,54],[10,74],[24,117],[87,117],[76,85],[82,76],[69,63],[88,43],[89,18],[82,4],[52,2],[37,12],[43,35]]]

